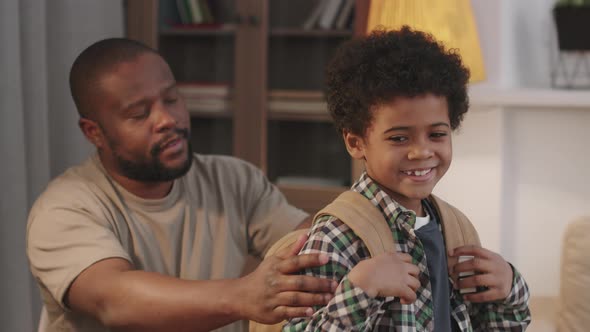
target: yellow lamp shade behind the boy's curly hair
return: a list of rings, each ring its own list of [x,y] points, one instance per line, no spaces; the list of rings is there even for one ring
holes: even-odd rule
[[[432,34],[447,49],[457,49],[471,72],[470,82],[485,79],[470,0],[371,0],[367,33],[404,25]]]

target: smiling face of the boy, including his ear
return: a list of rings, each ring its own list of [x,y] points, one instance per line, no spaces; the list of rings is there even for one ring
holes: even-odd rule
[[[449,169],[451,126],[445,97],[407,98],[372,109],[364,137],[344,134],[353,158],[364,159],[367,174],[395,201],[423,215],[421,200]]]

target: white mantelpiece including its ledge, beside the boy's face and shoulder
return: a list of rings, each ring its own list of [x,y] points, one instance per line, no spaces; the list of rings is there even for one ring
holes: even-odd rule
[[[558,295],[565,227],[590,214],[586,101],[586,108],[476,101],[436,188],[472,219],[484,247],[517,266],[534,296]]]

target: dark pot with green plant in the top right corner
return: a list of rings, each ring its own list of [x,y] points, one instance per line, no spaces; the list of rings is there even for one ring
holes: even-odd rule
[[[560,50],[590,50],[590,0],[559,0],[553,17]]]

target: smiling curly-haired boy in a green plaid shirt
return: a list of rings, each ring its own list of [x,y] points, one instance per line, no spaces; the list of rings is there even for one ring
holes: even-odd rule
[[[451,163],[451,132],[468,109],[468,70],[432,36],[404,27],[346,43],[327,70],[328,108],[366,172],[352,186],[382,212],[396,253],[370,257],[342,221],[320,218],[301,253],[327,253],[306,274],[339,281],[335,297],[284,331],[523,331],[530,322],[522,276],[489,250],[447,266],[440,217],[426,200]],[[476,274],[458,280],[459,273]],[[452,276],[449,277],[449,276]],[[460,289],[477,287],[463,295]],[[484,288],[485,287],[485,288]]]

